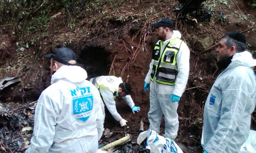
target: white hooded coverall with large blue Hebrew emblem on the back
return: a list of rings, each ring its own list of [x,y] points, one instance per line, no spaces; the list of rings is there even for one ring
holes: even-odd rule
[[[97,88],[78,66],[61,66],[40,95],[26,153],[96,153],[103,132]]]

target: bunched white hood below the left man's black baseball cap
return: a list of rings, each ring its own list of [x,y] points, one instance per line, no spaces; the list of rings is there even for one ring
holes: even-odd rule
[[[68,79],[70,82],[81,82],[86,78],[87,73],[83,68],[64,65],[52,75],[51,84],[58,82],[60,79]]]

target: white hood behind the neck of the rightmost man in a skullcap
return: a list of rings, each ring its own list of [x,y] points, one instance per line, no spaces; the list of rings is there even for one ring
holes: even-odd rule
[[[232,62],[228,65],[227,69],[238,65],[246,67],[252,67],[256,65],[256,60],[252,58],[252,54],[248,51],[236,53],[231,61]]]

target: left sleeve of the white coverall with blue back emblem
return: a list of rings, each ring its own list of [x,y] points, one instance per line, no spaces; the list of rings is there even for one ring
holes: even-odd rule
[[[26,153],[47,153],[51,147],[57,118],[51,104],[52,99],[43,92],[37,100],[33,137]]]

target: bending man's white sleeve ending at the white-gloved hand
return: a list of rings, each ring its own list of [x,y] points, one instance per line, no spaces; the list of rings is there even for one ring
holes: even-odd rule
[[[117,113],[116,102],[114,99],[113,92],[111,92],[107,87],[100,85],[100,94],[103,98],[104,103],[106,104],[108,111],[114,117],[115,120],[119,121],[122,119],[121,115]]]

